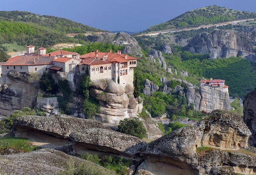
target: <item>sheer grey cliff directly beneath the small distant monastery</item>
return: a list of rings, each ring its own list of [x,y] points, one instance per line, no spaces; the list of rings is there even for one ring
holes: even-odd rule
[[[186,92],[186,101],[193,103],[196,111],[206,111],[220,109],[230,111],[229,92],[223,92],[218,88],[202,86],[199,90],[189,88]]]

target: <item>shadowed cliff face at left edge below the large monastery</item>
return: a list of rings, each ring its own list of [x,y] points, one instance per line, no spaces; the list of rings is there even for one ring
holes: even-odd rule
[[[0,114],[11,115],[23,107],[33,108],[36,105],[37,86],[29,83],[30,75],[11,71],[8,76],[1,76]]]

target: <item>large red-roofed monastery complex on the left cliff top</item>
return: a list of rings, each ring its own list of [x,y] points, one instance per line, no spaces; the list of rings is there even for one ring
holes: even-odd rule
[[[26,47],[26,54],[9,58],[6,62],[1,62],[1,75],[8,75],[10,71],[17,72],[75,72],[85,74],[89,71],[91,80],[110,78],[120,85],[126,85],[127,82],[133,82],[134,68],[137,67],[137,58],[130,57],[127,54],[117,53],[99,53],[98,50],[92,53],[79,55],[70,51],[58,50],[46,54],[46,48],[37,49],[38,54],[34,52],[34,46]]]

